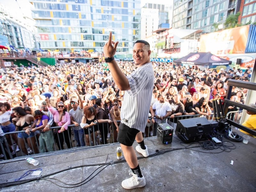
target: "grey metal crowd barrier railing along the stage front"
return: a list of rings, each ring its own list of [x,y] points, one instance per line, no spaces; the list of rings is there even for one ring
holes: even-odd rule
[[[188,119],[198,117],[199,115],[184,115],[184,116],[176,116],[174,122],[177,122],[180,119]],[[152,121],[152,118],[150,119]],[[169,121],[169,122],[168,122]],[[120,121],[117,121],[120,124]],[[174,126],[172,121],[170,121],[170,117],[164,119],[163,121],[159,121],[159,119],[155,118],[155,124],[147,124],[145,128],[145,132],[143,133],[143,137],[152,137],[156,136],[157,127],[159,123],[169,123],[172,127]],[[71,148],[83,148],[83,147],[93,147],[97,145],[107,145],[111,143],[117,142],[117,131],[116,126],[112,122],[111,124],[95,124],[88,129],[88,133],[85,136],[85,129],[79,132],[79,130],[75,129],[75,125],[69,125],[68,129],[64,132],[58,133],[60,130],[60,126],[50,127],[50,130],[47,132],[35,132],[35,136],[28,137],[25,131],[17,131],[17,132],[9,132],[5,133],[3,137],[1,137],[0,148],[2,150],[2,154],[4,155],[4,159],[13,159],[19,158],[34,154],[45,154],[52,153],[60,150],[68,150]],[[78,132],[77,132],[78,131]],[[21,134],[19,134],[21,133]],[[18,145],[20,148],[19,152],[15,151],[14,140],[12,139],[12,134],[17,135],[25,135],[28,138],[18,138]],[[80,135],[79,135],[80,134]],[[81,136],[81,137],[80,137]],[[79,140],[79,141],[78,141]],[[82,141],[82,142],[81,142]],[[83,143],[84,141],[84,143]],[[79,144],[77,146],[77,144]]]

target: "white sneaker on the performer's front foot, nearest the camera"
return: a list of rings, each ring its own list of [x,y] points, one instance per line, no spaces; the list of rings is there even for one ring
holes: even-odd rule
[[[144,187],[146,185],[145,177],[138,177],[137,174],[130,173],[131,178],[122,181],[122,187],[125,189],[134,189]]]

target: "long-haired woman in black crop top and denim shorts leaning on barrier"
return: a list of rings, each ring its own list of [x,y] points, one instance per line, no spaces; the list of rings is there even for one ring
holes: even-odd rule
[[[12,110],[16,116],[16,118],[12,119],[16,125],[15,131],[26,131],[26,129],[29,129],[31,124],[34,122],[34,117],[32,115],[26,114],[22,107],[15,107]],[[34,132],[31,132],[29,135],[26,132],[18,133],[19,147],[23,153],[28,155],[26,140],[28,142],[28,146],[34,151],[34,154],[39,153]]]

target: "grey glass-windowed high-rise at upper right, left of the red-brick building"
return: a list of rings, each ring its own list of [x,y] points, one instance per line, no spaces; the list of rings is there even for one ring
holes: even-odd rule
[[[239,12],[237,2],[238,0],[174,0],[172,27],[212,32],[213,23],[222,24],[230,14]]]

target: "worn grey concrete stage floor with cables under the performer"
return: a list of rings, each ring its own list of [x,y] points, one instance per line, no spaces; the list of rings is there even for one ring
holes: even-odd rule
[[[236,130],[237,131],[237,130]],[[244,133],[237,131],[241,136]],[[202,141],[201,141],[202,142]],[[85,180],[83,185],[65,185],[58,180],[36,180],[2,187],[0,191],[165,191],[165,192],[255,192],[256,191],[256,140],[251,138],[248,144],[243,142],[223,142],[225,145],[235,145],[235,149],[225,148],[206,150],[200,147],[185,149],[185,146],[198,146],[198,142],[191,145],[182,143],[176,135],[171,144],[163,145],[156,137],[145,139],[150,157],[140,158],[139,164],[142,174],[146,178],[146,186],[143,188],[127,190],[122,188],[122,180],[130,177],[131,172],[127,163],[116,159],[116,147],[119,144],[95,146],[92,148],[75,148],[66,153],[48,156],[34,156],[39,164],[33,166],[22,158],[0,162],[0,183],[13,182],[31,169],[42,168],[40,176],[53,172],[59,172],[47,178],[55,178],[64,183],[75,184]],[[134,148],[137,145],[134,142]],[[180,149],[180,150],[171,150]],[[156,150],[165,150],[163,154],[156,154]],[[199,152],[201,151],[201,152]],[[63,151],[62,151],[63,152]],[[221,153],[218,153],[221,152]],[[123,157],[124,159],[124,157]],[[231,165],[231,160],[234,161]],[[105,163],[109,164],[107,167]],[[94,165],[91,164],[102,164]],[[71,167],[89,165],[69,169]],[[106,167],[105,169],[103,169]],[[99,168],[96,172],[94,172]],[[102,171],[100,171],[102,170]],[[91,175],[92,174],[92,175]],[[91,175],[91,176],[90,176]],[[94,176],[94,177],[93,177]],[[21,180],[37,178],[29,174]],[[87,179],[88,178],[88,179]],[[44,178],[46,179],[46,178]],[[63,188],[60,186],[74,187]]]

